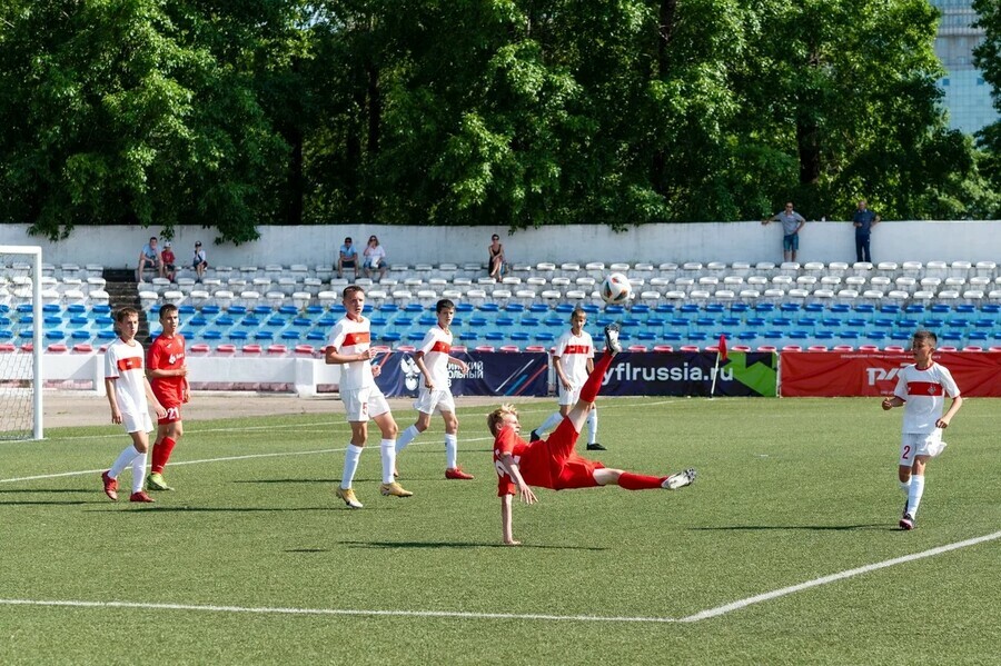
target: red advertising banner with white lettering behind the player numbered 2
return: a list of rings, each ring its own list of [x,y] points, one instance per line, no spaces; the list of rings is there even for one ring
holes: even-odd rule
[[[1001,354],[942,351],[934,360],[952,372],[967,397],[1001,398]],[[794,397],[890,396],[910,354],[885,351],[783,351],[780,395]]]

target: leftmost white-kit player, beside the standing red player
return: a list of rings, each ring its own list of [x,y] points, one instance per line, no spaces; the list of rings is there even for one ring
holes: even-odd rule
[[[157,418],[165,418],[167,410],[157,400],[142,370],[142,345],[136,341],[139,312],[135,308],[122,308],[115,319],[118,322],[119,338],[111,342],[105,354],[105,389],[111,405],[111,423],[125,425],[132,444],[101,475],[101,483],[105,485],[105,495],[112,501],[118,501],[118,475],[131,466],[132,494],[129,501],[149,503],[152,499],[142,490],[146,451],[149,449],[149,433],[152,430],[149,406],[153,406]]]

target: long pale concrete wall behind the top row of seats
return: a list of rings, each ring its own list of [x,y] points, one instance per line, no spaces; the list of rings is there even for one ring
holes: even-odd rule
[[[267,264],[329,265],[345,236],[364,248],[371,233],[386,248],[389,265],[485,264],[490,233],[502,235],[508,261],[604,261],[651,264],[685,261],[782,261],[782,227],[747,222],[645,225],[616,233],[604,226],[576,225],[517,231],[503,227],[396,227],[328,225],[317,227],[259,227],[260,239],[240,246],[212,243],[214,235],[200,227],[177,227],[174,247],[186,265],[195,241],[201,240],[212,266]],[[99,264],[108,268],[135,267],[139,249],[156,227],[79,227],[68,240],[49,242],[28,235],[27,225],[0,225],[0,245],[39,245],[47,264]],[[872,233],[875,261],[999,261],[1001,221],[888,221]],[[797,260],[855,260],[851,222],[809,222],[800,233]]]

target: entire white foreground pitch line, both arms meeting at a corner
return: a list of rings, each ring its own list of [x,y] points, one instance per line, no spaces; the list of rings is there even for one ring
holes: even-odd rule
[[[363,610],[350,608],[281,608],[281,607],[255,607],[255,606],[209,606],[194,604],[143,604],[139,602],[80,602],[80,600],[51,600],[51,599],[0,599],[0,606],[61,606],[72,608],[140,608],[148,610],[192,610],[201,613],[247,613],[261,615],[327,615],[327,616],[381,616],[381,617],[448,617],[456,619],[519,619],[519,620],[542,620],[542,622],[589,622],[589,623],[643,623],[643,624],[668,624],[668,623],[696,623],[704,619],[711,619],[741,610],[753,604],[761,604],[803,592],[812,587],[836,583],[854,576],[861,576],[870,571],[893,567],[900,564],[906,564],[925,557],[934,557],[960,548],[975,546],[985,541],[992,541],[1001,538],[1001,531],[974,537],[964,541],[939,546],[922,553],[913,555],[904,555],[893,559],[865,565],[854,569],[848,569],[822,578],[815,578],[783,587],[762,595],[747,597],[725,606],[710,608],[686,617],[628,617],[628,616],[597,616],[597,615],[552,615],[543,613],[465,613],[460,610]]]

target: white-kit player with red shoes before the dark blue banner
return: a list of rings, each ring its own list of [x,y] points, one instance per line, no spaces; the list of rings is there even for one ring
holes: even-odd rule
[[[472,479],[459,468],[458,458],[458,419],[455,416],[455,398],[448,387],[448,366],[457,366],[463,372],[469,368],[458,358],[449,356],[452,351],[452,319],[455,317],[455,304],[443,298],[435,306],[438,322],[427,331],[420,347],[414,352],[414,362],[424,376],[424,384],[417,394],[414,407],[417,409],[417,423],[404,430],[396,440],[396,455],[406,448],[415,437],[427,430],[430,417],[436,411],[445,419],[445,478]]]

